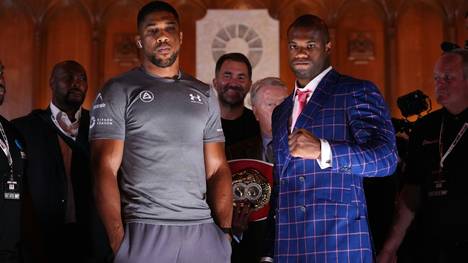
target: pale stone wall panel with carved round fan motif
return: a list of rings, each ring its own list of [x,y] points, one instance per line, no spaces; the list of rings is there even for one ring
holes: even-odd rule
[[[197,21],[196,38],[197,77],[204,82],[211,82],[216,61],[230,52],[249,58],[253,80],[279,76],[279,22],[267,9],[208,10]]]

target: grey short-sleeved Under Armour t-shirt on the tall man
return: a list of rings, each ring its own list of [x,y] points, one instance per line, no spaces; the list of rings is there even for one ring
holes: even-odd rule
[[[212,222],[203,145],[224,141],[212,88],[185,74],[166,79],[135,68],[104,86],[90,122],[90,140],[124,140],[124,222]]]

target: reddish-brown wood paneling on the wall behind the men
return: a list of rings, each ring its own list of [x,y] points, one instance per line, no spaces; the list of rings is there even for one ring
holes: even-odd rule
[[[89,107],[105,80],[136,63],[116,61],[119,34],[136,33],[136,14],[149,0],[0,0],[0,60],[6,66],[8,93],[0,113],[27,114],[50,101],[52,66],[75,59],[86,68]],[[280,77],[292,89],[286,30],[299,15],[313,13],[330,28],[332,64],[343,73],[375,82],[392,113],[398,96],[422,89],[433,96],[432,70],[442,40],[463,45],[468,39],[466,0],[170,0],[180,13],[184,40],[181,67],[195,74],[196,21],[207,9],[267,8],[280,23]],[[375,58],[348,60],[349,34],[370,32]],[[214,69],[213,69],[214,70]],[[436,105],[433,99],[434,106]]]

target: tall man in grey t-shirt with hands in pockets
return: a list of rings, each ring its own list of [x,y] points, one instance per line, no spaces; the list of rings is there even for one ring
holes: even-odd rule
[[[91,113],[98,210],[114,262],[229,262],[232,180],[214,90],[179,69],[179,16],[137,17],[142,65],[111,79]]]

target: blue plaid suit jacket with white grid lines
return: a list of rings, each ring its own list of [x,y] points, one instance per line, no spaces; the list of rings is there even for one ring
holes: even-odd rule
[[[372,262],[362,188],[364,176],[386,176],[397,164],[388,108],[371,82],[331,70],[295,129],[326,139],[332,167],[294,158],[288,149],[293,97],[273,113],[275,186],[269,217],[275,262]],[[271,244],[273,246],[273,244]]]

